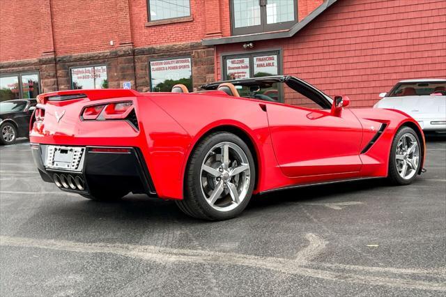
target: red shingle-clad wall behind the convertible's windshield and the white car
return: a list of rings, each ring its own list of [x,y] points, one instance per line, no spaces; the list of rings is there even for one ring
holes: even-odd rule
[[[270,47],[282,47],[285,74],[371,106],[401,79],[446,77],[446,1],[338,1],[293,38],[254,43]],[[221,54],[238,51],[217,47],[219,78]]]

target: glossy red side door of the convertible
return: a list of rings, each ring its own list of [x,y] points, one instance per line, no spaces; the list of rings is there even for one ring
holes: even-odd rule
[[[297,106],[268,105],[272,145],[282,172],[289,177],[360,172],[360,121],[348,109],[332,114],[330,103],[314,101],[325,95],[310,86],[305,89]],[[305,98],[312,98],[312,104]]]

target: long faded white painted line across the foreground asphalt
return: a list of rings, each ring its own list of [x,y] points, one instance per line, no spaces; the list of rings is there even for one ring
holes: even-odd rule
[[[310,234],[310,244],[307,248],[312,250],[316,248],[319,252],[324,246],[317,236]],[[153,261],[160,264],[170,262],[183,262],[192,264],[220,264],[220,265],[240,265],[255,268],[268,269],[280,273],[302,275],[306,277],[314,277],[323,280],[332,280],[338,282],[355,282],[367,285],[378,285],[388,287],[402,287],[405,289],[420,289],[426,291],[446,291],[446,282],[426,282],[415,279],[410,279],[407,275],[404,277],[381,277],[373,276],[364,273],[382,272],[375,267],[367,266],[353,266],[351,272],[337,272],[329,271],[328,269],[315,269],[304,267],[311,264],[308,260],[316,254],[308,253],[306,257],[296,257],[295,259],[285,259],[277,257],[258,257],[248,254],[236,254],[228,252],[213,252],[208,250],[187,250],[175,248],[161,248],[151,245],[127,245],[127,244],[111,244],[111,243],[79,243],[73,241],[59,241],[48,239],[34,239],[0,236],[0,245],[15,246],[21,248],[40,248],[45,250],[59,250],[67,252],[82,252],[82,253],[107,253],[117,254],[123,257],[130,257],[133,259],[142,259],[146,261]],[[305,253],[303,253],[305,254]],[[303,261],[303,262],[302,262]],[[315,263],[317,266],[318,264]],[[330,268],[330,266],[327,266]],[[339,266],[333,264],[332,268],[341,268],[346,270],[348,266]],[[360,269],[359,269],[360,268]],[[399,274],[397,269],[392,269],[392,273]],[[359,270],[359,271],[358,271]],[[426,270],[412,270],[417,276],[424,276]],[[445,270],[432,270],[432,273],[443,275]]]

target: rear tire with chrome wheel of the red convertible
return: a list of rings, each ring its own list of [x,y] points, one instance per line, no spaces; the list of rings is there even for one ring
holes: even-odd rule
[[[256,170],[247,144],[229,132],[215,132],[194,148],[185,173],[181,211],[203,220],[228,220],[249,203]]]

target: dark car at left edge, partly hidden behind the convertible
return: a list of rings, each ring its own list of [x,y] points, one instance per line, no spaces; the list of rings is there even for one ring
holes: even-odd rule
[[[0,144],[14,144],[17,137],[28,137],[29,121],[36,105],[36,99],[0,102]]]

